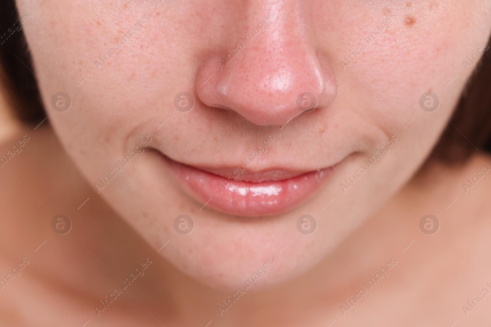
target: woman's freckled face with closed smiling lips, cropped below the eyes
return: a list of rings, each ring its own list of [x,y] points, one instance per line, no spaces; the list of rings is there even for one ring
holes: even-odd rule
[[[18,7],[87,181],[181,271],[230,289],[268,258],[258,289],[298,276],[373,215],[435,145],[491,29],[487,0]]]

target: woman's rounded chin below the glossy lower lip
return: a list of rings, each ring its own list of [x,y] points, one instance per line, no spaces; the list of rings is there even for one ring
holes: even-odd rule
[[[221,222],[199,217],[196,220],[203,220],[199,228],[172,238],[173,243],[159,254],[208,287],[227,292],[238,288],[248,293],[265,291],[311,270],[326,254],[320,233],[298,232],[297,216],[282,214],[254,221],[229,217]]]

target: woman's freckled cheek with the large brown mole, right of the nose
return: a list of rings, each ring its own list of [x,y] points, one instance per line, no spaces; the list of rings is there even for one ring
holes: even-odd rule
[[[389,29],[374,41],[369,39],[392,10],[397,18]],[[452,3],[444,1],[413,3],[409,8],[393,8],[374,17],[370,23],[362,16],[352,17],[355,25],[363,22],[370,27],[349,32],[349,44],[337,53],[348,66],[343,69],[341,62],[335,62],[336,78],[340,84],[349,85],[339,87],[339,104],[352,108],[356,116],[369,119],[370,124],[387,133],[400,133],[415,118],[413,123],[428,128],[422,128],[423,134],[414,137],[431,143],[447,122],[470,75],[462,65],[465,58],[462,54],[479,49],[486,42],[489,28],[471,41],[468,35],[476,34],[475,26],[458,15]],[[486,25],[489,27],[489,22]],[[351,55],[360,44],[366,50],[356,57]],[[440,102],[437,111],[428,113],[421,109],[419,101],[425,92],[436,93]]]

